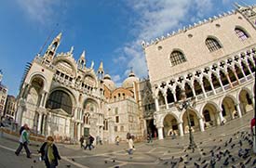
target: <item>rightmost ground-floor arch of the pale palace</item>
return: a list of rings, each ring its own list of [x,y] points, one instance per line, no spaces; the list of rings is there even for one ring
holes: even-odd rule
[[[247,113],[249,110],[253,110],[252,101],[249,98],[249,93],[246,90],[241,90],[239,93],[239,101],[242,114]]]

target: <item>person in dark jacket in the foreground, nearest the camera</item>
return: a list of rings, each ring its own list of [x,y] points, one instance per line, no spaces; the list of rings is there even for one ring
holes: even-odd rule
[[[61,156],[56,145],[53,143],[54,138],[47,136],[47,142],[39,149],[42,160],[45,161],[47,168],[55,168],[58,166],[58,160],[61,160]]]

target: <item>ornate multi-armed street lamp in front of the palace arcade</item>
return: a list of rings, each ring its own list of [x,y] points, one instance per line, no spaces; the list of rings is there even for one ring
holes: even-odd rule
[[[187,99],[186,93],[184,90],[182,90],[181,93],[181,102],[175,102],[175,106],[179,111],[186,110],[187,112],[187,120],[188,120],[188,128],[189,128],[189,146],[188,149],[195,149],[196,145],[194,142],[194,136],[192,134],[192,128],[191,128],[191,122],[190,122],[190,116],[189,116],[189,110],[193,109],[195,107],[195,97],[192,97],[192,99]]]

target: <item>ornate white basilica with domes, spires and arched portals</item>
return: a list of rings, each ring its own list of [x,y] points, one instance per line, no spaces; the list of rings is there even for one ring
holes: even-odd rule
[[[139,78],[130,71],[124,84],[116,87],[102,62],[94,71],[93,62],[87,66],[85,51],[76,61],[74,47],[57,52],[60,43],[61,33],[27,65],[17,97],[16,122],[57,141],[77,142],[91,135],[114,143],[115,136],[125,140],[128,132],[140,139]]]

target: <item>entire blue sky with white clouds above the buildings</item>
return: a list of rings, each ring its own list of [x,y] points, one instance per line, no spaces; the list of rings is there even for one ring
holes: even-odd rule
[[[86,50],[87,67],[94,61],[121,84],[132,70],[147,77],[141,41],[177,31],[255,0],[12,0],[0,2],[0,70],[8,94],[17,96],[26,62],[31,62],[50,35],[62,32],[58,52],[74,45],[77,60]],[[58,26],[56,26],[58,24]],[[52,33],[51,33],[52,32]],[[46,50],[44,47],[43,52]]]

